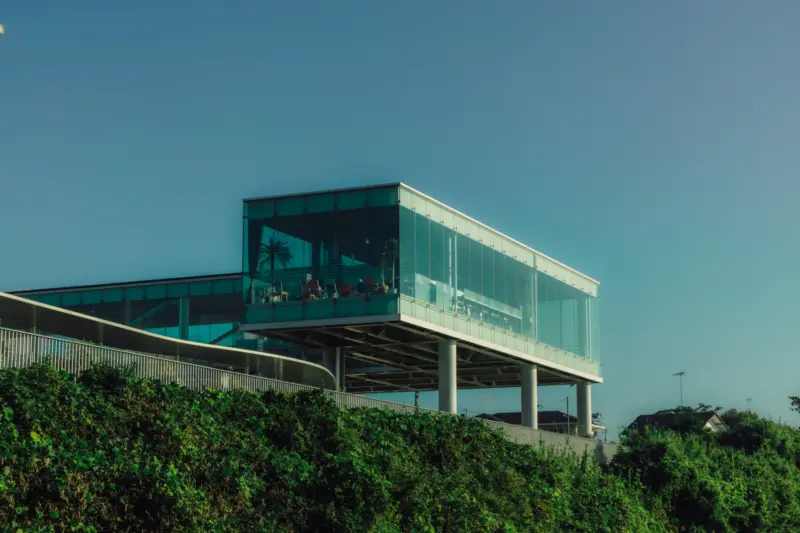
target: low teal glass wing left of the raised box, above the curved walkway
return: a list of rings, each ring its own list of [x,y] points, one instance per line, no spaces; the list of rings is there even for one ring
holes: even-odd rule
[[[241,320],[241,291],[241,277],[233,275],[22,295],[168,337],[233,346],[240,335],[225,334]]]

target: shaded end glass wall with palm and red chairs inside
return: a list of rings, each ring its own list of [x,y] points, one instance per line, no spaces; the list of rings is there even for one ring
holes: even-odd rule
[[[397,313],[397,187],[245,203],[245,321]]]

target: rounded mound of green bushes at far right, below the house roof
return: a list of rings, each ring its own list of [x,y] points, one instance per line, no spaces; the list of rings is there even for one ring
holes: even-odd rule
[[[687,532],[800,531],[800,436],[752,412],[722,415],[730,431],[626,433],[610,471],[641,483]]]

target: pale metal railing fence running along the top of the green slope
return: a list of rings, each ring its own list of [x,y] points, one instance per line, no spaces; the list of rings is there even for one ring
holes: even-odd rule
[[[273,390],[282,393],[318,390],[307,385],[219,370],[151,354],[117,350],[0,327],[0,369],[23,368],[42,362],[47,358],[50,359],[56,369],[75,376],[95,363],[107,362],[115,366],[133,366],[136,375],[143,378],[178,383],[196,390],[203,388],[220,390],[245,389],[249,391]],[[328,390],[325,391],[325,394],[338,407],[343,409],[369,407],[391,409],[407,414],[414,414],[420,411],[440,413],[434,409],[418,408],[412,405],[387,402],[344,392]],[[615,444],[504,424],[492,420],[484,420],[484,422],[501,429],[509,440],[519,444],[544,445],[578,455],[589,453],[595,455],[601,462],[607,461],[616,453]]]

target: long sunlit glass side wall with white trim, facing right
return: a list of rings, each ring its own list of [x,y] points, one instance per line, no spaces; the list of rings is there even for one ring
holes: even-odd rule
[[[594,282],[404,186],[399,196],[403,314],[518,351],[543,344],[599,360]]]

